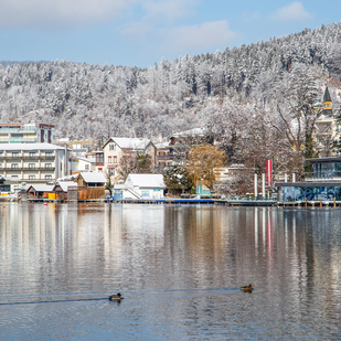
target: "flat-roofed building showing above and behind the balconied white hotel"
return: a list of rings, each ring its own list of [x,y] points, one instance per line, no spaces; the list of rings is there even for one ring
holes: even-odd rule
[[[54,126],[43,124],[0,124],[0,143],[54,143]]]

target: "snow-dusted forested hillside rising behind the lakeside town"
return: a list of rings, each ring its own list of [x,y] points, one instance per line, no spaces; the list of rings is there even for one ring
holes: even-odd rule
[[[300,143],[292,134],[283,135],[286,119],[292,120],[283,115],[305,100],[311,114],[324,84],[339,106],[340,77],[340,23],[214,54],[162,58],[147,68],[14,63],[0,65],[0,121],[44,121],[55,125],[60,137],[94,140],[158,140],[209,126],[230,151],[243,140],[233,148],[237,154],[262,129],[276,140],[281,134],[281,146]]]

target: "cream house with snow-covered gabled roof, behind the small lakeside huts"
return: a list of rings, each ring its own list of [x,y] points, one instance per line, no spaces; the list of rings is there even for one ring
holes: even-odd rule
[[[148,156],[151,167],[156,164],[156,146],[149,139],[110,137],[103,146],[104,150],[104,172],[108,173],[113,180],[118,180],[119,166],[122,158],[135,156]]]

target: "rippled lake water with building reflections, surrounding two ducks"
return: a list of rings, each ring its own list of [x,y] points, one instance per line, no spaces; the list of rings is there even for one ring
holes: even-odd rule
[[[339,209],[1,203],[0,214],[1,340],[341,339]]]

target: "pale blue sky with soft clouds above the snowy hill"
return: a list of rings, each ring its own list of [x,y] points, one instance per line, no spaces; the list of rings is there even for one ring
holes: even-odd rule
[[[341,0],[0,0],[0,61],[147,67],[340,17]]]

